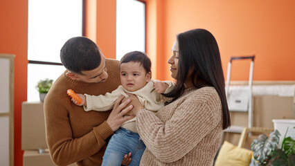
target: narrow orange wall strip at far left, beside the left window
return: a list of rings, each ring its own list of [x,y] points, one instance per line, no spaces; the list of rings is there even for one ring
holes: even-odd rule
[[[0,1],[0,53],[15,55],[15,165],[22,165],[21,102],[26,101],[28,1]]]

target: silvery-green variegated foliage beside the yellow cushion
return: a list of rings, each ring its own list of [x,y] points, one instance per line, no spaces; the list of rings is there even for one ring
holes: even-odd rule
[[[267,164],[271,158],[271,151],[278,147],[280,133],[275,130],[269,134],[269,138],[265,134],[260,134],[257,139],[253,140],[251,150],[255,160],[259,163]]]

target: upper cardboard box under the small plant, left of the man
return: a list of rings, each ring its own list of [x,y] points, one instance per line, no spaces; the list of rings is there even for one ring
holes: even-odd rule
[[[47,149],[43,103],[23,102],[21,110],[21,149]]]

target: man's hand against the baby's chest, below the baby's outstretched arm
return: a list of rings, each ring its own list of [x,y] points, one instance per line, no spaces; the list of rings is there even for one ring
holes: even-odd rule
[[[127,120],[131,120],[134,116],[125,116],[125,113],[132,110],[133,106],[130,105],[128,107],[127,104],[131,102],[131,100],[125,100],[124,102],[120,103],[123,100],[124,95],[120,95],[120,97],[116,100],[114,104],[113,111],[109,114],[109,118],[107,118],[107,123],[109,127],[111,127],[112,131],[116,131],[123,122]],[[124,117],[123,117],[124,116]]]

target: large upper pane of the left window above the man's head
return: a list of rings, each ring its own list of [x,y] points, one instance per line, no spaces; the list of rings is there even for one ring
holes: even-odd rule
[[[60,48],[82,35],[82,0],[28,1],[28,59],[60,62]]]

